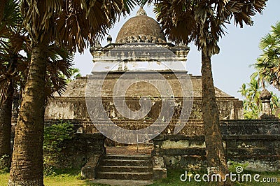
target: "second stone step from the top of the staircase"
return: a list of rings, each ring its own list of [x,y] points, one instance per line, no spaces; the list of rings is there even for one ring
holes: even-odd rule
[[[103,159],[102,165],[106,166],[151,166],[152,160],[139,159]]]

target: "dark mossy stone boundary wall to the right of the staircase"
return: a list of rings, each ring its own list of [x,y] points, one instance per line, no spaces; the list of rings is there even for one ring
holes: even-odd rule
[[[206,170],[203,125],[199,128],[195,135],[160,134],[153,139],[153,155],[163,157],[167,168]],[[222,121],[221,132],[228,160],[247,164],[246,169],[253,171],[280,170],[279,120]]]

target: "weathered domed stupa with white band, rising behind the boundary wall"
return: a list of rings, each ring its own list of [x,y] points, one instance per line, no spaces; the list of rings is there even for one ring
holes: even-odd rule
[[[84,132],[98,131],[90,121],[86,103],[86,97],[97,96],[95,93],[90,95],[91,93],[88,93],[87,90],[88,79],[92,76],[95,76],[96,82],[99,83],[102,79],[102,93],[99,95],[102,96],[102,109],[106,110],[106,115],[110,120],[125,129],[143,129],[148,123],[155,122],[160,117],[162,110],[162,94],[169,96],[174,101],[171,123],[180,120],[183,113],[183,99],[186,97],[182,87],[187,87],[188,98],[192,97],[191,108],[187,109],[191,112],[187,111],[184,119],[188,117],[189,121],[202,120],[202,77],[192,76],[186,69],[190,50],[188,45],[169,43],[160,24],[148,17],[143,8],[139,9],[136,16],[123,24],[116,43],[112,43],[111,36],[108,36],[107,41],[108,44],[104,47],[97,43],[90,49],[94,63],[92,74],[73,80],[64,94],[56,95],[55,99],[48,101],[45,109],[46,120],[76,120],[87,126],[84,127]],[[137,112],[137,110],[141,110],[141,103],[139,103],[141,97],[144,96],[151,100],[151,109],[141,119],[138,116],[123,115],[116,108],[116,101],[113,100],[113,94],[116,94],[114,87],[116,90],[118,80],[122,79],[124,74],[128,74],[124,78],[125,82],[131,84],[129,87],[123,87],[127,89],[125,94],[122,94],[125,97],[127,108],[132,112]],[[162,79],[159,79],[158,76],[161,76]],[[131,81],[135,78],[138,78],[139,82]],[[188,85],[182,85],[179,79],[187,80],[187,82],[189,80]],[[148,80],[155,80],[157,85],[149,83]],[[172,93],[167,88],[165,89],[166,85],[170,85]],[[122,90],[122,87],[118,89]],[[160,92],[160,89],[165,89],[165,93]],[[217,87],[215,90],[220,118],[223,120],[243,119],[242,101]],[[165,110],[165,112],[168,113],[169,110]],[[160,120],[165,119],[160,118]],[[98,120],[94,122],[98,122]],[[168,132],[173,132],[172,130],[174,127],[170,128]]]

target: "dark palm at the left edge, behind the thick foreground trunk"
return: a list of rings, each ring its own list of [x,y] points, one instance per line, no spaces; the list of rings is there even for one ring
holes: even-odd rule
[[[8,56],[8,57],[7,57]],[[0,157],[5,155],[6,164],[10,162],[10,129],[12,117],[13,94],[21,81],[20,69],[28,64],[25,57],[7,53],[0,56]],[[23,69],[21,72],[24,72]]]

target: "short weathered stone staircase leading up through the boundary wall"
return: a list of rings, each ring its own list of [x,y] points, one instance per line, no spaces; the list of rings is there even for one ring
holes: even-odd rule
[[[106,155],[99,164],[97,179],[153,180],[152,157],[148,155]]]

